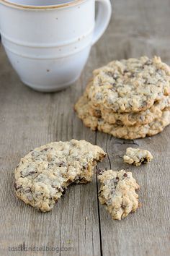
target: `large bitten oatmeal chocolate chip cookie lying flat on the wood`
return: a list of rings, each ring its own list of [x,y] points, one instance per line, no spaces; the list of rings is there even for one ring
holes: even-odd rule
[[[35,148],[14,171],[17,197],[47,212],[72,183],[91,182],[94,166],[106,153],[85,140],[51,142]]]

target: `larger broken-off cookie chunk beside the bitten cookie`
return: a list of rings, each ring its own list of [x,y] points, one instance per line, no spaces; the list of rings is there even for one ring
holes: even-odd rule
[[[99,190],[99,201],[106,205],[106,209],[114,220],[121,220],[139,207],[138,194],[135,190],[139,185],[131,172],[104,171],[98,176],[102,186]]]

